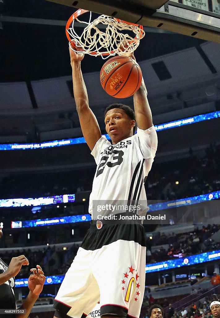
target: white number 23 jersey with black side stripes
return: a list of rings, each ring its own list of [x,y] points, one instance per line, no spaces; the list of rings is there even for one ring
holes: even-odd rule
[[[137,128],[137,134],[114,145],[101,136],[91,152],[97,164],[89,198],[89,213],[93,219],[96,219],[95,206],[100,201],[101,205],[103,202],[112,205],[119,201],[146,202],[144,180],[152,167],[157,143],[154,126],[146,130]],[[108,215],[109,211],[100,214]]]

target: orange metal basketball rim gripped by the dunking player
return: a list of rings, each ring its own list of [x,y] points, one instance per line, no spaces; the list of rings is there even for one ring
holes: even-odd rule
[[[89,10],[84,10],[84,9],[78,9],[78,10],[76,10],[75,12],[74,12],[74,14],[72,14],[72,16],[68,19],[68,21],[67,21],[67,24],[66,24],[66,36],[67,36],[67,38],[68,38],[68,41],[71,43],[71,45],[74,47],[74,48],[76,48],[76,45],[75,45],[75,43],[74,43],[74,39],[71,39],[70,38],[70,36],[69,36],[69,33],[68,33],[68,29],[69,29],[69,26],[70,26],[70,24],[74,21],[74,19],[76,19],[77,17],[79,17],[79,16],[81,16],[82,14],[84,14],[84,13],[86,13],[86,12],[89,12]],[[143,25],[140,25],[140,24],[135,24],[135,23],[131,23],[131,22],[127,22],[127,21],[124,21],[124,20],[120,20],[120,19],[117,19],[117,18],[114,18],[114,19],[116,19],[117,21],[121,21],[122,23],[125,23],[125,24],[131,24],[131,25],[136,25],[137,27],[139,27],[139,29],[141,29],[141,37],[142,37],[142,35],[143,35]],[[140,37],[140,38],[141,38]],[[135,39],[136,39],[137,37],[135,36]],[[130,43],[133,43],[133,42],[135,42],[135,41],[131,41]],[[85,51],[84,49],[82,49],[82,51]],[[99,52],[101,55],[110,55],[110,54],[112,54],[112,53],[114,53],[114,51],[112,50],[112,51],[110,51],[110,52]],[[94,51],[94,52],[89,52],[89,54],[91,54],[91,55],[98,55],[98,52],[96,52],[96,51]]]

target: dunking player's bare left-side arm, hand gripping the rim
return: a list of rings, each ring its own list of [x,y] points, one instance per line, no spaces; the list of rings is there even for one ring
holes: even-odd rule
[[[80,50],[80,49],[79,49]],[[83,53],[76,53],[69,48],[70,62],[73,70],[73,92],[80,126],[87,145],[92,150],[101,137],[98,121],[89,108],[87,89],[81,72]]]

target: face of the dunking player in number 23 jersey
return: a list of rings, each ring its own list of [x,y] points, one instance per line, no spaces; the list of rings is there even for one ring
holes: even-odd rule
[[[106,132],[115,144],[133,135],[135,121],[120,108],[110,109],[105,117]]]

